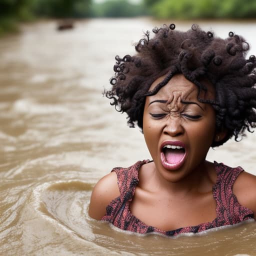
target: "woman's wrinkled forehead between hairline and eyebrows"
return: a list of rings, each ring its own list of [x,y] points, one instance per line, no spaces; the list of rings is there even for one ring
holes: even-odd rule
[[[152,90],[159,82],[165,78],[164,76],[158,77],[150,86],[149,90]],[[213,86],[204,80],[203,85],[207,87],[207,92],[201,92],[200,97],[203,99],[214,99],[214,89]],[[183,74],[175,74],[166,85],[161,87],[161,89],[155,94],[150,96],[150,98],[165,98],[166,100],[169,96],[176,94],[181,96],[182,99],[194,99],[197,100],[198,87],[187,80]]]

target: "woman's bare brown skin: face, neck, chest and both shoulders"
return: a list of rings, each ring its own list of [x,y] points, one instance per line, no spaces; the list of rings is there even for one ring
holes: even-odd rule
[[[162,79],[156,79],[150,89]],[[200,96],[214,98],[212,87],[209,85],[208,91]],[[214,124],[212,106],[197,100],[196,86],[182,74],[173,76],[155,95],[146,98],[143,133],[153,161],[139,170],[139,183],[130,204],[133,215],[165,231],[209,222],[216,217],[212,196],[216,172],[205,157],[212,140],[222,139],[225,131],[216,132]],[[186,155],[180,166],[163,166],[164,141],[183,143]],[[256,212],[256,176],[242,172],[233,192],[241,205]],[[93,188],[89,215],[101,219],[105,207],[117,196],[117,177],[111,172]]]

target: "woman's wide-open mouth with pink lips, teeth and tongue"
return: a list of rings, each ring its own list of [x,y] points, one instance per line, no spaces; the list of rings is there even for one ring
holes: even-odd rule
[[[178,168],[183,163],[184,157],[185,148],[183,145],[173,145],[172,143],[165,143],[161,147],[162,165],[167,169]]]

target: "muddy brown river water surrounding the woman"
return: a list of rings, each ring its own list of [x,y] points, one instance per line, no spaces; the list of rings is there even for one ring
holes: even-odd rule
[[[134,53],[149,18],[88,19],[58,32],[24,25],[0,39],[0,255],[256,255],[256,224],[166,238],[116,230],[87,214],[91,189],[114,166],[150,158],[101,92],[114,56]],[[199,22],[242,33],[256,53],[255,22]],[[191,22],[176,22],[188,29]],[[208,159],[256,174],[256,136],[210,150]]]

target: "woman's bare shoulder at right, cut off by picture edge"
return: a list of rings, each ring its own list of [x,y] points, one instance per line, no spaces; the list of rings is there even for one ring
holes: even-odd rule
[[[242,171],[233,184],[238,202],[256,214],[256,176]]]

